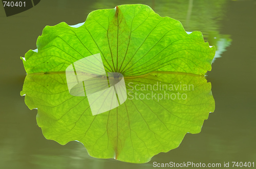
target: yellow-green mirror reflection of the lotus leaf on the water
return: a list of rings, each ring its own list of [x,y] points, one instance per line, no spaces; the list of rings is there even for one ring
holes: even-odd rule
[[[133,163],[177,148],[187,132],[201,131],[215,109],[211,84],[203,76],[152,72],[124,80],[127,100],[96,116],[86,96],[69,94],[65,73],[28,74],[20,95],[26,94],[30,109],[38,108],[37,124],[47,139],[61,145],[78,140],[93,157]],[[147,94],[151,99],[142,99]]]

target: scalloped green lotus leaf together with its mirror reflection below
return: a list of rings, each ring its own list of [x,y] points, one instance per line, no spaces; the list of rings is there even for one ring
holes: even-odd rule
[[[215,109],[204,78],[215,47],[148,6],[93,11],[79,26],[46,26],[37,48],[25,55],[28,75],[20,94],[29,108],[38,108],[37,124],[47,139],[62,145],[78,140],[93,157],[147,162],[177,148],[187,132],[199,133]],[[84,86],[72,91],[83,95],[71,95],[65,70],[96,53],[106,72],[123,75],[127,99],[93,116]]]

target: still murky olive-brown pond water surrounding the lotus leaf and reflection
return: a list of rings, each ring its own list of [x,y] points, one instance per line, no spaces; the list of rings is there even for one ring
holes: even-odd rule
[[[201,31],[217,52],[206,79],[211,82],[215,111],[198,134],[186,134],[180,146],[134,164],[88,155],[81,143],[65,146],[48,140],[37,126],[37,110],[20,96],[26,77],[19,57],[36,48],[46,25],[74,25],[97,9],[120,1],[41,1],[32,9],[6,17],[0,11],[0,167],[1,168],[154,168],[157,163],[254,162],[256,165],[255,1],[124,1],[145,4],[160,16],[181,21],[188,32]]]

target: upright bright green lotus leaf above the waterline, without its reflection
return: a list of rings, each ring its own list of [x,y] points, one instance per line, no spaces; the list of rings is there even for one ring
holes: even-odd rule
[[[105,70],[124,77],[155,70],[204,75],[215,55],[200,32],[188,35],[179,21],[145,5],[93,11],[79,27],[65,22],[46,26],[36,45],[38,52],[29,50],[23,61],[28,74],[64,72],[75,61],[100,53]]]

